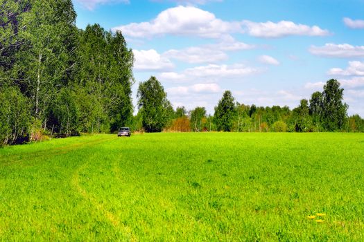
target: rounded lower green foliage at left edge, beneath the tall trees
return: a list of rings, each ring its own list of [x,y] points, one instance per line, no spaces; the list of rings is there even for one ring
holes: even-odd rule
[[[3,87],[0,104],[0,146],[27,141],[31,124],[28,99],[16,87]]]

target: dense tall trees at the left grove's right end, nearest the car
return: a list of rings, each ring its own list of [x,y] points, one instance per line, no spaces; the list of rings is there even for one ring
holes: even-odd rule
[[[80,31],[78,62],[76,85],[101,104],[98,127],[110,126],[110,131],[116,131],[126,126],[132,120],[134,56],[121,32],[112,34],[98,24],[87,26]]]

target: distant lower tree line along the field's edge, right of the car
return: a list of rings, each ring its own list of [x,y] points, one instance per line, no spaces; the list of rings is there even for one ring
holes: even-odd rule
[[[234,131],[234,132],[363,132],[359,115],[347,116],[340,82],[329,80],[323,91],[312,93],[295,109],[288,106],[256,106],[236,102],[231,91],[225,91],[215,106],[214,115],[205,107],[187,111],[184,106],[173,110],[162,84],[155,77],[139,84],[139,113],[133,129],[155,131]]]

